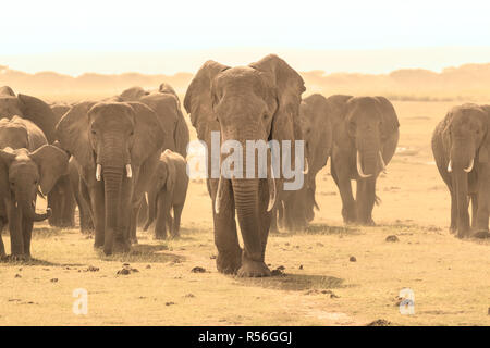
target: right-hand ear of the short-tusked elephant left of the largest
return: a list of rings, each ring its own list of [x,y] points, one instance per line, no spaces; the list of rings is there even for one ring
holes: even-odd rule
[[[134,112],[134,145],[131,163],[140,166],[145,160],[163,146],[163,129],[157,114],[140,102],[130,102]]]

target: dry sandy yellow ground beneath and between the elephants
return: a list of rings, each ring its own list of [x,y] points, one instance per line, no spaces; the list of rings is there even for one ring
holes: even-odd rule
[[[394,102],[400,151],[379,179],[378,226],[344,227],[338,189],[328,170],[319,175],[314,224],[269,239],[267,262],[282,276],[216,271],[210,200],[192,183],[182,238],[157,243],[142,232],[130,256],[106,258],[75,229],[38,225],[36,260],[0,264],[0,325],[490,325],[490,241],[449,234],[449,194],[430,150],[453,104]],[[118,275],[123,263],[138,272]],[[87,315],[73,313],[76,288],[88,291]],[[415,295],[413,315],[400,313],[403,288]]]

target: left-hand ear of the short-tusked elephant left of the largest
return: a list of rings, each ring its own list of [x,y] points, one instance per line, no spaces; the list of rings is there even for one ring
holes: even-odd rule
[[[73,105],[56,126],[60,146],[76,158],[82,166],[94,166],[94,154],[88,139],[88,111],[95,104],[85,101]]]

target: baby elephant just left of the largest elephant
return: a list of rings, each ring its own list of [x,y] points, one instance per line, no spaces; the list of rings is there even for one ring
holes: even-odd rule
[[[144,227],[147,231],[157,215],[155,238],[167,238],[167,226],[171,236],[179,236],[182,209],[187,195],[188,176],[185,159],[171,150],[166,150],[151,177],[148,191],[148,221]],[[173,219],[170,210],[173,208]]]

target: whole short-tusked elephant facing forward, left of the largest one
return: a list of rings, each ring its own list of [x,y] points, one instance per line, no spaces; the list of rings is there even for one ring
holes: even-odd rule
[[[106,254],[131,249],[136,220],[163,146],[157,114],[140,102],[83,102],[57,125],[63,149],[82,167],[95,225]]]

